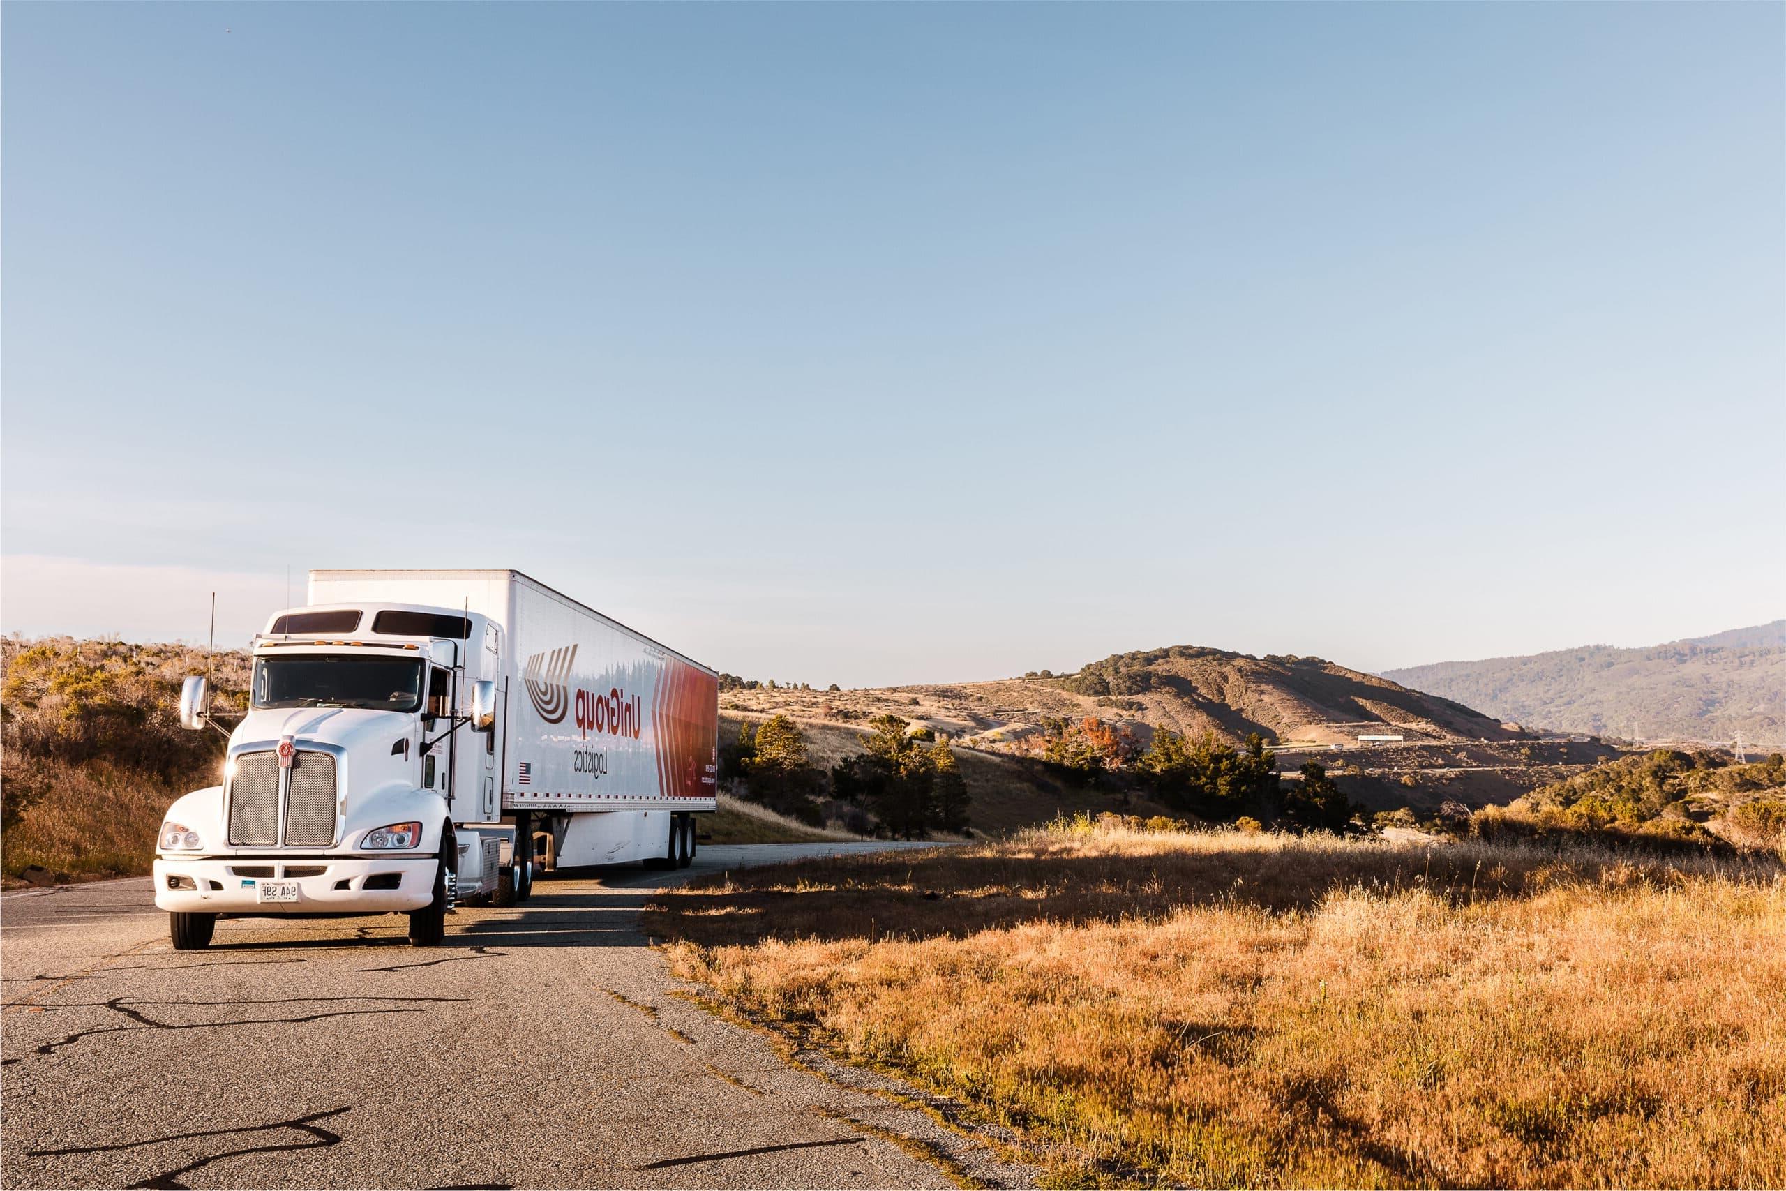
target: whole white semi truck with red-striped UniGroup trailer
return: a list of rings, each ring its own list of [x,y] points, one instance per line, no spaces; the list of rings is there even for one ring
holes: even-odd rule
[[[714,809],[718,675],[520,571],[311,571],[252,657],[223,784],[155,845],[180,950],[220,916],[380,912],[432,946],[536,866],[688,864]],[[204,679],[180,723],[216,725]]]

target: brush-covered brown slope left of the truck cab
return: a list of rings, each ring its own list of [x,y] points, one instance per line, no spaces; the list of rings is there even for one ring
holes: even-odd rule
[[[148,871],[175,798],[220,780],[223,737],[179,721],[209,666],[213,707],[246,707],[248,659],[184,645],[0,639],[0,866],[79,880]]]

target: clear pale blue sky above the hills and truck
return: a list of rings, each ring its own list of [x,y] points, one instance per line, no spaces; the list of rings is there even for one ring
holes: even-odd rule
[[[0,11],[0,629],[843,686],[1786,614],[1786,7]],[[289,577],[289,586],[288,586]]]

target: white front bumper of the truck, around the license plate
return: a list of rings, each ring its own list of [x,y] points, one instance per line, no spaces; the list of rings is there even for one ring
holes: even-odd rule
[[[320,873],[314,870],[321,870]],[[155,861],[155,905],[188,914],[389,914],[434,900],[434,857],[325,857],[311,861]],[[252,870],[259,877],[245,877]],[[300,870],[302,875],[289,870]],[[296,902],[259,902],[263,877],[298,882]],[[395,880],[393,880],[395,879]],[[368,889],[366,882],[373,887]],[[393,886],[395,887],[380,887]]]

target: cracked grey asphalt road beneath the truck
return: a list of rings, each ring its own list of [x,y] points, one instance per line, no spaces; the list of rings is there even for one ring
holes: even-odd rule
[[[461,909],[220,921],[175,952],[148,879],[0,902],[7,1187],[947,1187],[920,1112],[670,996],[657,886],[884,845],[709,846],[693,870]],[[995,1179],[997,1180],[997,1179]]]

